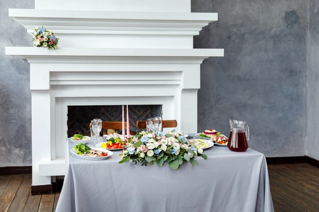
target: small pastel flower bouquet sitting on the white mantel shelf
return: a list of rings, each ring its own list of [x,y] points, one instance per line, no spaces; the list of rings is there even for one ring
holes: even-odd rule
[[[43,26],[33,29],[33,44],[36,47],[47,47],[49,50],[58,48],[59,39],[52,31]]]

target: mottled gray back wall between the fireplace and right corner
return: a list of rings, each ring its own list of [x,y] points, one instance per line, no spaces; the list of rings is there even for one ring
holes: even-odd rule
[[[307,3],[192,1],[192,12],[219,14],[194,47],[225,49],[201,66],[198,131],[229,135],[229,118],[246,120],[252,148],[268,157],[305,154]]]

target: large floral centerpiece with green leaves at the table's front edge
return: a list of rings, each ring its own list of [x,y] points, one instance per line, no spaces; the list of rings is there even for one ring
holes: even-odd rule
[[[124,151],[119,163],[132,161],[143,165],[156,163],[163,166],[168,162],[172,169],[177,169],[182,163],[191,162],[197,165],[195,158],[201,156],[205,160],[203,149],[195,148],[192,140],[171,132],[147,133],[145,131],[131,137],[127,150]]]

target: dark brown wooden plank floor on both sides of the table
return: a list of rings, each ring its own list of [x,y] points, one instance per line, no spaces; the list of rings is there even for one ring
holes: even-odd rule
[[[319,168],[309,164],[268,165],[276,212],[319,211]],[[0,176],[0,212],[55,211],[60,193],[32,196],[31,175]]]

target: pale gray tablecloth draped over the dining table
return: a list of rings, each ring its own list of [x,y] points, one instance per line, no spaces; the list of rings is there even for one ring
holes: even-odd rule
[[[204,150],[197,166],[158,167],[119,164],[119,154],[90,161],[70,153],[57,212],[81,211],[274,211],[267,163],[253,149],[231,152],[224,146]]]

